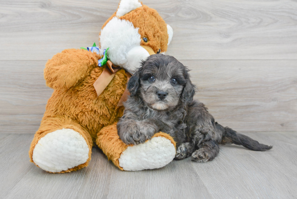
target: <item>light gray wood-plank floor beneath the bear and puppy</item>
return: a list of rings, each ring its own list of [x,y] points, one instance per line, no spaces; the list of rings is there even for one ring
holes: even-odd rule
[[[121,171],[97,148],[88,167],[52,174],[29,162],[33,134],[0,134],[0,198],[296,198],[296,132],[246,133],[267,152],[221,146],[211,162]]]

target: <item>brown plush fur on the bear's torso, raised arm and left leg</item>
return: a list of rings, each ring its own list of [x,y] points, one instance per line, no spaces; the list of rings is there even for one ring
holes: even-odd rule
[[[118,70],[97,97],[93,84],[105,69],[105,66],[98,67],[98,58],[97,54],[86,50],[69,49],[46,63],[46,84],[55,90],[31,144],[29,155],[32,162],[33,150],[39,139],[55,130],[68,128],[82,134],[90,149],[88,161],[71,170],[87,166],[97,133],[122,116],[123,107],[117,107],[117,102],[125,90],[125,70]]]

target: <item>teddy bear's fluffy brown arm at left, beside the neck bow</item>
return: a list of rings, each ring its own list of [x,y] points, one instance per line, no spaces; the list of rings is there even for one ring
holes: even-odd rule
[[[46,85],[53,89],[75,86],[98,66],[100,58],[100,55],[83,49],[63,50],[45,64]]]

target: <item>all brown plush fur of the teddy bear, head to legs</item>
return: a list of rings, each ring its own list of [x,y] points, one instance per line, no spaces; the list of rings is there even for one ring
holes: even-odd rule
[[[105,22],[102,29],[115,14],[116,12]],[[149,39],[148,42],[142,40],[141,45],[149,46],[155,53],[159,49],[161,52],[167,50],[167,26],[154,9],[143,5],[119,19],[129,20],[139,28],[139,34],[142,37]],[[85,163],[62,173],[87,166],[91,160],[94,142],[120,168],[117,158],[127,146],[117,142],[122,141],[118,137],[116,128],[102,128],[114,124],[123,115],[124,107],[117,105],[126,87],[127,74],[123,69],[118,70],[102,94],[97,97],[93,84],[106,67],[98,67],[100,58],[100,55],[87,50],[68,49],[56,54],[46,63],[44,69],[46,85],[55,90],[48,100],[41,125],[32,141],[29,150],[31,162],[33,162],[35,145],[42,137],[58,129],[68,128],[83,136],[87,142],[89,154]],[[170,139],[175,145],[170,136],[162,134],[159,136]]]

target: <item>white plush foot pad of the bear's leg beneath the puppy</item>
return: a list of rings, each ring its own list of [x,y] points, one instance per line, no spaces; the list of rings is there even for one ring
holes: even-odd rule
[[[175,156],[175,147],[169,139],[154,137],[145,143],[128,146],[118,159],[126,171],[161,168]]]

